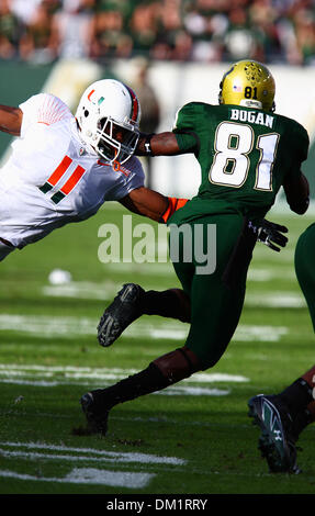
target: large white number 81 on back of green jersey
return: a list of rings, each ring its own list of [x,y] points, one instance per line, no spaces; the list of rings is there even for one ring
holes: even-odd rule
[[[271,175],[279,138],[278,133],[257,137],[256,148],[260,150],[260,157],[256,165],[256,190],[272,191]],[[249,154],[254,144],[255,133],[250,125],[230,122],[220,124],[214,141],[215,156],[209,172],[210,182],[240,188],[251,165]]]

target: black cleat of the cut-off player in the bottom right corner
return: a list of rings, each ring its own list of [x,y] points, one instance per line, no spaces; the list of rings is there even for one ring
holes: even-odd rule
[[[248,415],[261,429],[258,448],[271,473],[301,472],[296,465],[296,448],[290,435],[292,418],[277,396],[259,394],[248,402]]]

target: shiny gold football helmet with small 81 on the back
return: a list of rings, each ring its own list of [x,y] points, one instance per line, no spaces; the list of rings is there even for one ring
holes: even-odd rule
[[[269,69],[256,60],[240,60],[232,65],[220,83],[220,104],[274,111],[275,83]]]

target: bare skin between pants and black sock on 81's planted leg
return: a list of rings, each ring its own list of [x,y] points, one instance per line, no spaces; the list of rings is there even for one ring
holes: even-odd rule
[[[189,378],[200,371],[202,364],[196,355],[187,346],[162,355],[153,361],[170,384]]]

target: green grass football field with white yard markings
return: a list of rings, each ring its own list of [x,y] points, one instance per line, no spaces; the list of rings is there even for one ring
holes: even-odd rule
[[[281,390],[314,363],[314,334],[293,268],[296,239],[313,217],[285,213],[272,218],[288,225],[290,244],[280,254],[257,246],[239,327],[222,360],[162,393],[116,406],[106,438],[74,434],[86,423],[80,396],[182,346],[188,326],[145,316],[104,349],[95,337],[99,317],[126,281],[178,285],[171,266],[98,259],[99,227],[121,224],[126,214],[112,203],[4,260],[0,493],[314,493],[315,427],[299,441],[303,473],[270,474],[247,416],[251,395]],[[52,284],[56,268],[71,281]]]

